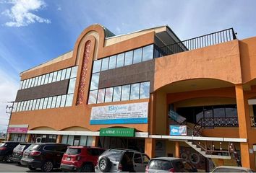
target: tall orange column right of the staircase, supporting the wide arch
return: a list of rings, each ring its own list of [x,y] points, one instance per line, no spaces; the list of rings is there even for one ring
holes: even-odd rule
[[[240,143],[242,167],[251,167],[248,143],[249,123],[249,106],[247,99],[244,98],[244,90],[242,84],[237,84],[236,88],[236,106],[239,121],[239,137],[247,138],[247,143]]]

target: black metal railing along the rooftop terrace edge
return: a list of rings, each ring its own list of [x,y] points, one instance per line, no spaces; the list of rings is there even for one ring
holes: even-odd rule
[[[216,45],[219,43],[228,42],[236,39],[236,33],[233,28],[213,32],[208,35],[202,35],[200,37],[194,37],[189,40],[184,40],[179,43],[166,45],[158,48],[158,52],[161,56],[168,56],[174,53],[180,53],[187,50],[195,50],[197,48],[204,48],[209,45]]]

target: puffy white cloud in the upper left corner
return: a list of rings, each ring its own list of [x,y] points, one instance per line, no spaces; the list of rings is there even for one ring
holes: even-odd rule
[[[9,0],[4,3],[13,5],[11,9],[6,9],[1,13],[12,19],[5,23],[8,27],[23,27],[35,22],[51,23],[51,20],[32,13],[46,6],[43,0]]]

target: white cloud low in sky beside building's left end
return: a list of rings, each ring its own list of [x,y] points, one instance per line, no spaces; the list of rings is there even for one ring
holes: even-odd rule
[[[0,70],[0,132],[7,129],[9,115],[6,113],[8,102],[14,101],[19,88],[18,81]]]

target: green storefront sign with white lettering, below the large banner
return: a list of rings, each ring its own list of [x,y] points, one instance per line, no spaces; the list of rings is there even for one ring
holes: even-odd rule
[[[135,137],[135,128],[101,128],[100,136]]]

